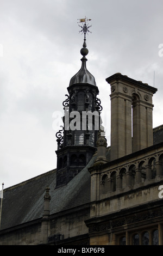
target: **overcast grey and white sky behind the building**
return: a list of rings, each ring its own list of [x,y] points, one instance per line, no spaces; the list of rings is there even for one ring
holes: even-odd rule
[[[56,167],[54,113],[63,113],[68,84],[81,66],[77,19],[92,19],[87,69],[99,88],[108,145],[110,86],[105,78],[116,72],[158,88],[153,127],[163,124],[162,14],[162,0],[0,0],[4,188]]]

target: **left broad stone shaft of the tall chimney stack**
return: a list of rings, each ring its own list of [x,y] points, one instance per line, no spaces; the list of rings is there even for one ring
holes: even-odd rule
[[[111,87],[111,148],[110,160],[118,159],[132,152],[131,97],[118,87]],[[115,88],[115,90],[114,90]],[[118,89],[116,89],[118,88]],[[118,91],[120,90],[120,92]],[[122,90],[122,92],[121,92]]]

